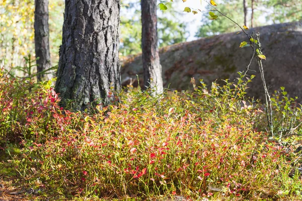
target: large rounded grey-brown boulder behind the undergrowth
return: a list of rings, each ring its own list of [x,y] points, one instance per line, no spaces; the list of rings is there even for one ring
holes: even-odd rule
[[[291,96],[302,97],[302,22],[275,24],[247,30],[260,33],[260,43],[266,60],[263,60],[264,74],[270,92],[285,86]],[[207,84],[218,79],[233,81],[238,71],[245,71],[253,51],[250,47],[239,48],[242,41],[248,41],[244,33],[230,33],[180,43],[160,50],[165,87],[177,90],[192,88],[191,77]],[[248,74],[256,77],[250,83],[248,94],[264,97],[259,68],[253,60]],[[122,84],[139,77],[143,83],[141,54],[122,61]],[[134,81],[137,84],[137,81]]]

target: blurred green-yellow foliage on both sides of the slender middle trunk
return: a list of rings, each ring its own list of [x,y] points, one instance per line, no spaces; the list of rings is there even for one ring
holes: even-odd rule
[[[122,2],[124,4],[121,6],[120,55],[127,56],[141,52],[141,9],[139,1]],[[177,3],[179,2],[173,4]],[[172,9],[172,4],[168,4],[167,7],[169,8],[167,11],[157,11],[160,48],[185,42],[189,36],[187,24],[180,20],[184,13]]]

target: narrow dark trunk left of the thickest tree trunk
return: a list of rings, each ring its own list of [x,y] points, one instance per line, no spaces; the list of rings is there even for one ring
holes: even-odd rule
[[[51,67],[49,52],[48,28],[48,0],[35,0],[35,51],[37,60],[37,73]],[[37,74],[38,81],[45,78],[45,74]],[[50,77],[49,77],[50,78]]]

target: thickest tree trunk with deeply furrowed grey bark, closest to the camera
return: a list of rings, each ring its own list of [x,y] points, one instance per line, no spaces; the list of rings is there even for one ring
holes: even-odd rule
[[[75,110],[108,105],[121,88],[120,0],[65,0],[63,39],[55,91]]]

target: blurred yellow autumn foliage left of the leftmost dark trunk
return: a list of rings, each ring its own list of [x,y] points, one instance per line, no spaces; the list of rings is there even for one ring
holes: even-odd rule
[[[21,66],[34,50],[34,2],[0,1],[0,64]],[[18,75],[22,75],[18,73]]]

